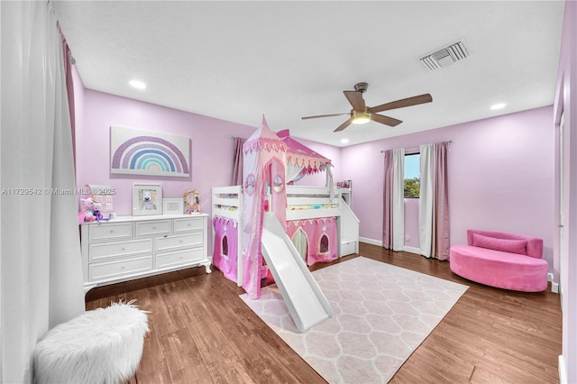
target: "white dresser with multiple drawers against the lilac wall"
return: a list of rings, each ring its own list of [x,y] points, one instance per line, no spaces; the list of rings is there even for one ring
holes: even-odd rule
[[[210,273],[206,214],[118,216],[81,225],[85,293],[97,286],[170,270]]]

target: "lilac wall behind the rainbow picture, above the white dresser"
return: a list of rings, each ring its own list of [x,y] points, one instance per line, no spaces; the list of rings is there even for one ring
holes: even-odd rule
[[[132,215],[134,182],[161,183],[163,197],[181,197],[197,189],[201,209],[211,212],[211,188],[231,184],[235,137],[249,137],[254,127],[120,96],[84,90],[82,123],[77,138],[77,184],[104,184],[116,189],[116,215]],[[191,177],[140,177],[110,173],[110,126],[186,136],[191,141]]]

